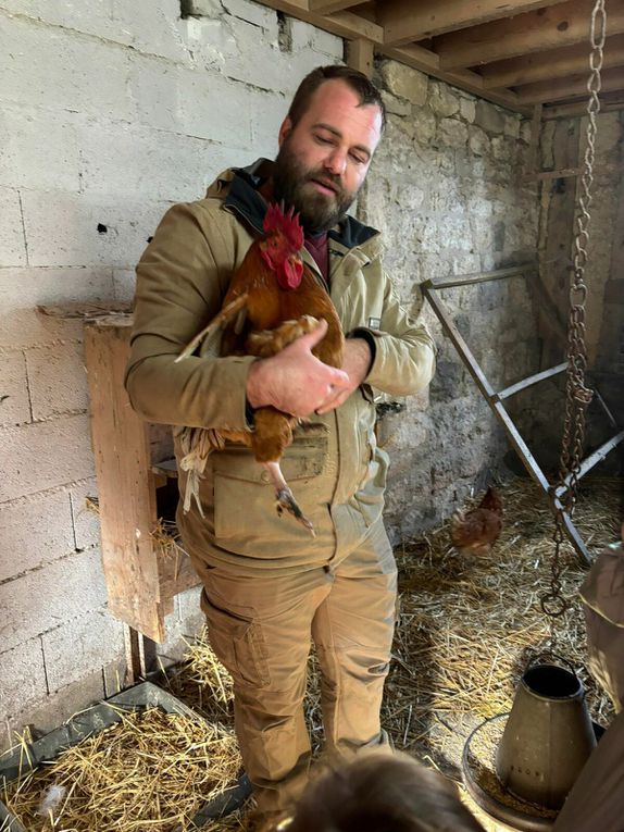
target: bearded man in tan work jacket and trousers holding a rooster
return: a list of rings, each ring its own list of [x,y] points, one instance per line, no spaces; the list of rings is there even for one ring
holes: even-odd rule
[[[375,444],[374,398],[425,387],[434,345],[383,271],[378,232],[346,214],[384,123],[380,95],[363,74],[314,70],[279,128],[275,162],[226,171],[205,199],[172,208],[137,268],[126,388],[139,413],[184,425],[201,410],[200,426],[236,431],[252,431],[253,409],[266,405],[312,413],[287,458],[300,471],[302,505],[323,506],[316,537],[286,522],[279,545],[263,536],[266,520],[254,510],[253,493],[265,486],[248,475],[250,452],[240,447],[209,457],[203,513],[178,509],[185,548],[203,583],[211,645],[234,679],[236,732],[257,798],[254,830],[272,829],[307,783],[302,703],[312,639],[327,752],[345,757],[387,742],[379,708],[396,564],[382,520],[388,458]],[[229,277],[262,235],[267,201],[280,200],[299,212],[303,259],[340,318],[341,371],[312,355],[321,331],[267,359],[174,363],[220,310]]]

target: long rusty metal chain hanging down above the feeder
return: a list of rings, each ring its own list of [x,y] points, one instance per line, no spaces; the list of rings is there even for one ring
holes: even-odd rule
[[[567,370],[565,376],[565,418],[563,423],[563,439],[559,460],[559,476],[557,494],[559,505],[554,520],[554,552],[551,561],[550,592],[540,599],[541,609],[554,619],[562,616],[569,607],[563,597],[561,576],[561,544],[564,538],[563,513],[570,517],[576,505],[578,473],[583,459],[583,440],[585,437],[585,415],[592,398],[592,392],[585,385],[587,369],[587,348],[585,345],[585,301],[587,286],[584,282],[587,265],[587,246],[589,244],[589,207],[591,204],[591,185],[594,182],[594,162],[596,160],[596,116],[600,112],[598,94],[601,87],[600,71],[602,69],[604,38],[607,35],[606,0],[596,0],[591,12],[591,33],[589,42],[589,80],[587,90],[587,147],[585,149],[584,169],[581,178],[578,196],[578,213],[574,236],[574,281],[570,288],[570,320],[567,325]],[[554,643],[554,632],[551,634]]]

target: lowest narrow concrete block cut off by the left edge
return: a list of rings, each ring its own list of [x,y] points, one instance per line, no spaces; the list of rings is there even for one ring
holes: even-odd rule
[[[41,639],[30,638],[18,647],[0,653],[0,713],[9,717],[46,694],[46,668]]]

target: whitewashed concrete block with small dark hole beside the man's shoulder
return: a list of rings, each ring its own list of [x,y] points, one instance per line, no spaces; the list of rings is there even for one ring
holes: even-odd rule
[[[25,191],[29,262],[134,268],[169,206],[157,200]]]

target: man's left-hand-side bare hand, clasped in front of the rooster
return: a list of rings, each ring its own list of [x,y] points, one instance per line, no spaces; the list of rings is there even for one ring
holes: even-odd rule
[[[315,410],[321,412],[321,407],[332,410],[326,406],[338,392],[348,390],[347,398],[354,387],[346,368],[328,367],[312,355],[312,348],[326,332],[327,322],[321,320],[313,332],[297,338],[276,356],[251,364],[247,400],[252,408],[271,405],[285,413],[305,417]],[[364,345],[370,362],[371,353],[365,342]]]

